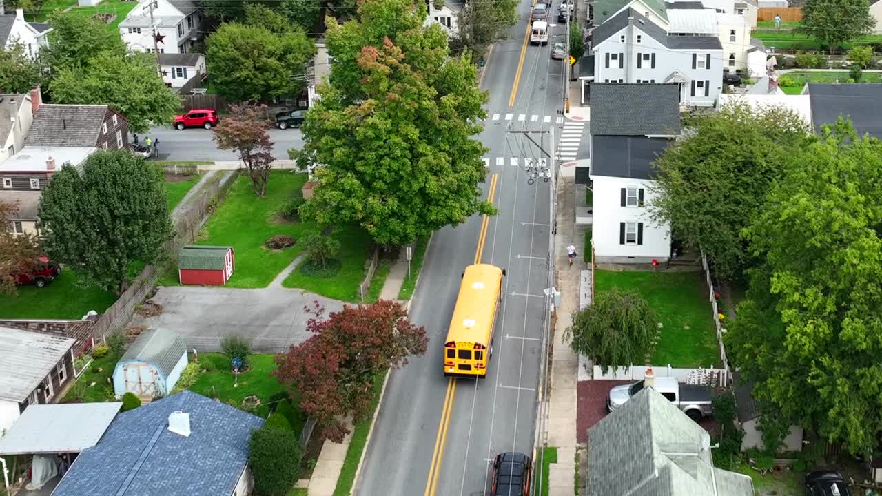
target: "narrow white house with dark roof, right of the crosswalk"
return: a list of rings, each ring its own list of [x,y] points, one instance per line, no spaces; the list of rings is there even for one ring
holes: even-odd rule
[[[652,162],[680,134],[680,87],[591,86],[592,245],[598,263],[650,263],[670,256],[670,225],[655,222]],[[576,171],[576,177],[584,177]],[[578,179],[577,179],[578,182]]]

